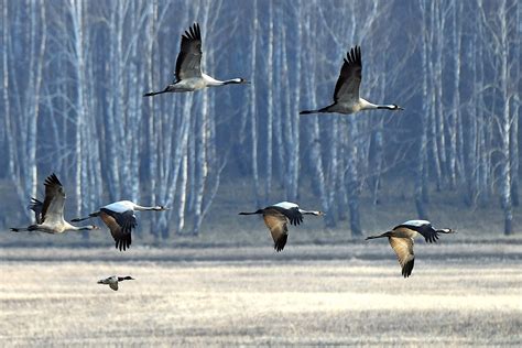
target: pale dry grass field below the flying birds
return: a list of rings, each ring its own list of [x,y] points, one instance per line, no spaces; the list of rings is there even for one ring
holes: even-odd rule
[[[3,248],[0,346],[522,342],[522,243],[415,248]]]

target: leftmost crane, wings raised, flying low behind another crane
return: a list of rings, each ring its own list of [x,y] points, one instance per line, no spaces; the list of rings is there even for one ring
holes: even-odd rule
[[[42,203],[36,198],[31,198],[30,208],[34,211],[36,224],[25,228],[11,228],[13,232],[40,231],[45,233],[63,233],[66,231],[94,230],[98,227],[94,225],[76,227],[64,219],[65,189],[56,174],[51,174],[45,178],[45,198]]]

